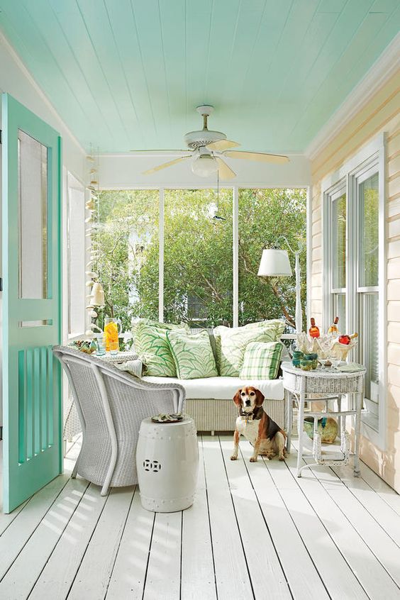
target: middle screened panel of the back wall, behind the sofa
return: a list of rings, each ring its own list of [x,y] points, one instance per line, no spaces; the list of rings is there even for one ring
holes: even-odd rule
[[[232,325],[232,190],[168,189],[164,199],[164,320]]]

